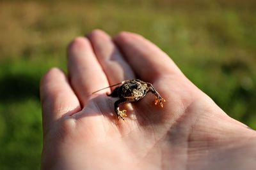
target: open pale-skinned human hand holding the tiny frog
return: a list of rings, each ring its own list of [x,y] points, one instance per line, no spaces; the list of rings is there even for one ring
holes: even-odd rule
[[[132,78],[152,83],[166,102],[155,106],[148,94],[121,106],[127,117],[118,120],[116,99],[106,96],[111,89],[92,92]],[[95,30],[74,39],[68,76],[52,68],[40,94],[42,169],[256,167],[256,132],[228,117],[166,53],[138,34],[111,38]]]

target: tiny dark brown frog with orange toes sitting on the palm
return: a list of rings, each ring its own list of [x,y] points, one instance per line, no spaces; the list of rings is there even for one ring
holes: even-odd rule
[[[155,104],[159,103],[159,105],[163,108],[162,102],[165,102],[165,100],[163,99],[163,97],[160,96],[160,94],[156,91],[156,89],[154,89],[151,83],[147,83],[138,79],[132,79],[132,80],[122,81],[122,83],[118,83],[116,85],[120,85],[120,87],[116,87],[116,89],[113,90],[111,94],[107,94],[107,95],[111,97],[120,98],[118,99],[118,101],[115,102],[115,113],[118,117],[118,120],[119,118],[122,118],[124,120],[124,117],[127,117],[126,110],[119,110],[120,104],[138,101],[144,96],[146,96],[148,92],[152,92],[152,94],[156,96],[156,98],[154,99],[154,103]],[[113,87],[113,86],[115,85],[112,85],[110,87]]]

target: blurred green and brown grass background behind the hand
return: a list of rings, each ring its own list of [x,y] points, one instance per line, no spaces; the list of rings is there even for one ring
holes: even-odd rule
[[[92,29],[132,31],[168,53],[230,117],[256,129],[256,1],[0,1],[0,169],[40,169],[38,87]]]

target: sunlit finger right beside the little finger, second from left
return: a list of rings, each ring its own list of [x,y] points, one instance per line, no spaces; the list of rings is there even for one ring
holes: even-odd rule
[[[76,38],[69,46],[68,72],[71,85],[83,106],[92,92],[109,85],[87,38]],[[106,93],[106,90],[100,92]]]

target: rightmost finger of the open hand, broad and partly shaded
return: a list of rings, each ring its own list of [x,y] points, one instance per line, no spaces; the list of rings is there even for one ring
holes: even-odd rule
[[[121,32],[115,37],[115,43],[135,74],[145,81],[153,81],[164,74],[182,74],[166,53],[138,34]]]

